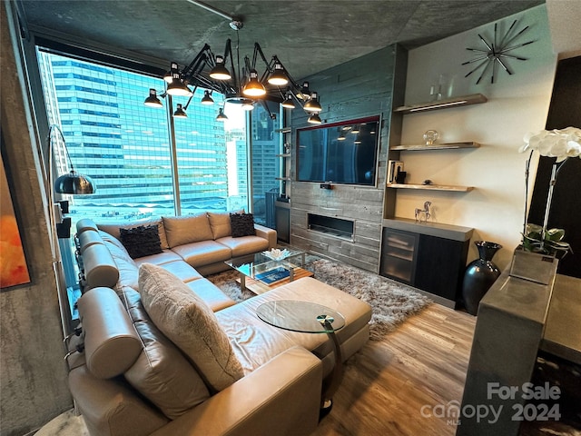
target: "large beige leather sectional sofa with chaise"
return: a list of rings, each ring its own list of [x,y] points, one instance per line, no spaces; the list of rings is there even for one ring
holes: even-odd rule
[[[225,225],[226,216],[214,223]],[[346,325],[337,338],[347,360],[369,338],[369,305],[314,278],[235,303],[201,271],[221,271],[228,268],[223,260],[271,248],[276,233],[257,226],[256,235],[232,238],[226,226],[211,240],[188,242],[195,232],[186,224],[194,221],[176,220],[157,222],[167,244],[162,253],[137,259],[114,236],[118,226],[77,225],[86,286],[78,302],[83,333],[71,348],[84,342],[84,350],[69,357],[69,385],[90,433],[310,434],[334,366],[333,344],[324,333],[262,322],[256,308],[298,300],[340,312]],[[177,229],[190,235],[170,236]],[[222,261],[216,243],[230,249]]]

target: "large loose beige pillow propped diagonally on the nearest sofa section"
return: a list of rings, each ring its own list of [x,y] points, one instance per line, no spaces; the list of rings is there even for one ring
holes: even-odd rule
[[[241,379],[241,363],[216,315],[186,284],[160,266],[143,263],[139,289],[152,321],[190,359],[212,391]]]

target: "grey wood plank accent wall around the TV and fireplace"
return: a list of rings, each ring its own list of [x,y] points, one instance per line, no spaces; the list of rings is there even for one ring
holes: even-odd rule
[[[389,45],[305,79],[309,81],[310,89],[320,95],[323,123],[381,116],[379,165],[376,187],[333,184],[332,190],[325,190],[320,189],[320,183],[297,182],[296,129],[311,124],[307,123],[308,115],[294,110],[291,122],[292,245],[379,272],[381,223],[384,210],[389,210],[389,203],[393,203],[386,203],[385,199],[389,141],[393,142],[394,134],[399,136],[401,131],[400,117],[396,123],[399,125],[392,126],[391,111],[392,107],[403,103],[407,57],[403,47]],[[353,241],[310,231],[308,213],[352,220]]]

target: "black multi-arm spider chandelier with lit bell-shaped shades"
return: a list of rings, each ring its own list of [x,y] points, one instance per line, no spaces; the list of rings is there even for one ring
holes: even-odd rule
[[[190,3],[201,5],[222,16],[228,16],[202,2]],[[297,84],[276,54],[267,61],[258,43],[254,43],[252,57],[244,56],[241,64],[238,31],[243,24],[240,19],[232,18],[230,26],[237,32],[236,58],[232,53],[232,43],[229,38],[223,54],[214,54],[210,45],[205,44],[192,62],[183,68],[172,62],[169,72],[163,77],[167,83],[166,88],[159,97],[163,98],[167,94],[189,97],[185,106],[177,104],[173,116],[177,118],[187,116],[186,110],[192,97],[200,88],[204,90],[202,104],[213,104],[213,93],[222,94],[224,103],[241,104],[241,107],[248,111],[257,104],[262,104],[270,113],[267,101],[281,103],[283,107],[289,109],[294,109],[299,104],[310,115],[309,123],[320,124],[319,114],[322,110],[320,97],[316,92],[310,91],[309,83]],[[159,97],[157,91],[151,88],[144,104],[162,107]],[[271,114],[271,117],[276,117],[276,114]],[[216,119],[221,121],[228,119],[223,113],[223,107],[219,109]]]

